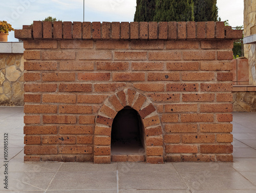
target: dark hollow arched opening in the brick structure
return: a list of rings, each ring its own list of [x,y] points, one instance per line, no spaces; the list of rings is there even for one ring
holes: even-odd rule
[[[139,113],[125,106],[112,123],[111,155],[143,155],[144,127]]]

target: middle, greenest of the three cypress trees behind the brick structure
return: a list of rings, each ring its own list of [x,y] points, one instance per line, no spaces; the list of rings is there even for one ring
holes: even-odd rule
[[[194,21],[193,0],[156,0],[155,22]]]

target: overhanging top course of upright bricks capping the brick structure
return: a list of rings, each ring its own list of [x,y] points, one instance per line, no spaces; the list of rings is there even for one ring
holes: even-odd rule
[[[15,30],[23,40],[66,39],[229,39],[242,38],[242,30],[232,30],[224,22],[40,22]]]

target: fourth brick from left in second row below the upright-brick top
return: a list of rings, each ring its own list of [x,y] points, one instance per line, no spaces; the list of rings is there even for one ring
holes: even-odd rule
[[[115,52],[115,60],[145,60],[146,52]]]

